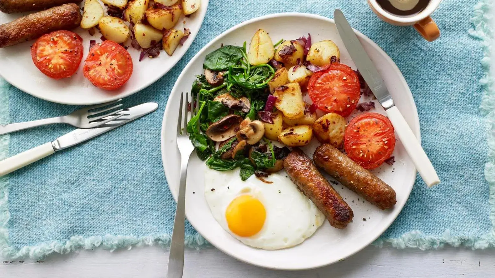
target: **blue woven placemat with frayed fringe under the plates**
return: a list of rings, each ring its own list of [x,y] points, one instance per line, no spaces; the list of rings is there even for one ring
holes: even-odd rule
[[[433,43],[412,27],[380,21],[363,0],[259,1],[249,5],[249,11],[239,1],[210,1],[198,37],[182,61],[125,100],[155,101],[158,111],[0,179],[0,255],[7,260],[42,259],[52,252],[96,246],[168,246],[175,203],[163,174],[160,126],[168,94],[186,63],[212,38],[247,19],[281,11],[332,17],[337,7],[402,71],[418,107],[423,147],[442,180],[440,186],[427,189],[417,179],[403,211],[375,244],[423,249],[446,243],[494,246],[495,93],[488,76],[489,1],[443,0],[433,14],[442,37]],[[466,16],[469,10],[472,18]],[[0,82],[1,123],[74,109]],[[0,137],[0,159],[71,130],[49,126]],[[207,243],[188,225],[187,245]]]

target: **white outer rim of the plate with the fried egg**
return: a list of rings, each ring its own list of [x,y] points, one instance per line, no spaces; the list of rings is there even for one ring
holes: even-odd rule
[[[221,34],[219,34],[218,36],[216,36],[215,38],[213,38],[208,44],[206,44],[205,46],[203,46],[190,59],[189,63],[184,67],[184,69],[182,70],[181,74],[177,77],[177,80],[181,80],[183,78],[183,76],[186,74],[186,72],[189,71],[190,67],[192,67],[192,63],[191,62],[193,60],[196,60],[199,55],[201,55],[206,49],[208,49],[210,46],[212,46],[213,44],[215,44],[222,37],[226,36],[227,34],[233,32],[233,31],[235,31],[237,29],[240,29],[240,28],[242,28],[242,27],[244,27],[246,25],[249,25],[251,23],[254,23],[254,22],[257,22],[257,21],[262,21],[262,20],[265,20],[265,19],[278,18],[278,17],[303,17],[303,18],[304,17],[305,18],[308,18],[309,17],[309,18],[313,18],[313,19],[317,19],[317,20],[327,21],[327,22],[329,22],[331,24],[335,24],[335,21],[332,18],[324,17],[324,16],[317,15],[317,14],[303,13],[303,12],[273,13],[273,14],[267,14],[267,15],[263,15],[263,16],[259,16],[259,17],[255,17],[255,18],[249,19],[247,21],[241,22],[241,23],[239,23],[239,24],[237,24],[237,25],[235,25],[235,26],[233,26],[233,27],[225,30],[224,32],[222,32]],[[414,97],[412,96],[412,93],[411,93],[411,90],[409,88],[409,85],[407,84],[404,76],[402,75],[402,72],[397,67],[397,65],[394,62],[394,60],[392,60],[392,58],[380,46],[378,46],[375,42],[373,42],[370,38],[368,38],[367,36],[365,36],[361,32],[355,30],[354,28],[352,28],[352,30],[354,31],[354,33],[357,35],[358,38],[367,41],[372,46],[374,46],[374,48],[376,48],[378,50],[378,52],[380,52],[382,55],[384,55],[385,56],[385,59],[389,60],[392,63],[392,67],[394,68],[394,70],[397,71],[400,74],[400,76],[402,77],[401,80],[400,80],[400,82],[403,83],[403,85],[405,85],[405,88],[407,88],[407,90],[405,92],[403,92],[404,93],[403,96],[409,98],[409,100],[410,100],[410,102],[412,104],[412,107],[411,108],[413,108],[412,109],[413,110],[413,120],[417,124],[416,125],[416,128],[413,129],[413,133],[414,133],[414,135],[416,136],[416,138],[421,143],[421,131],[420,131],[420,123],[419,123],[418,110],[417,110],[417,107],[416,107],[416,103],[414,102]],[[174,84],[174,87],[172,88],[172,90],[171,90],[170,93],[172,94],[173,92],[175,92],[179,86],[180,86],[180,84],[178,84],[178,82],[176,81],[176,83]],[[170,98],[170,96],[169,96],[169,98]],[[161,148],[162,166],[163,166],[165,178],[167,179],[167,185],[169,187],[170,192],[172,193],[172,196],[173,196],[174,200],[177,202],[178,192],[174,192],[174,190],[172,190],[172,188],[170,187],[170,185],[168,183],[167,176],[169,176],[170,173],[168,173],[168,175],[167,175],[167,170],[165,168],[165,161],[164,161],[164,159],[165,159],[165,122],[166,122],[166,119],[168,118],[168,114],[170,113],[169,105],[171,105],[171,104],[170,104],[169,101],[167,101],[167,105],[166,105],[165,111],[163,113],[162,127],[161,127],[161,133],[160,133],[160,148]],[[388,223],[386,225],[386,227],[384,227],[383,230],[380,231],[380,233],[376,237],[374,237],[370,242],[368,242],[366,245],[361,246],[360,248],[357,248],[354,252],[348,254],[346,257],[344,257],[342,259],[346,259],[346,258],[348,258],[348,257],[356,254],[357,252],[361,251],[365,247],[369,246],[371,243],[373,243],[373,241],[375,241],[377,238],[379,238],[392,225],[392,223],[396,220],[396,218],[399,215],[399,213],[404,208],[405,203],[409,199],[409,196],[410,196],[410,194],[412,192],[412,189],[414,187],[414,183],[416,181],[416,174],[417,174],[417,171],[416,171],[416,169],[414,169],[413,174],[412,174],[412,177],[411,177],[411,181],[412,182],[411,182],[411,185],[409,186],[410,187],[410,190],[407,193],[407,198],[405,198],[404,204],[402,205],[402,207],[400,208],[400,210],[398,210],[395,213],[393,220],[390,221],[390,223]],[[186,218],[187,218],[187,214],[186,214]],[[195,225],[193,223],[191,223],[191,225],[198,232],[198,229],[195,227]],[[198,232],[198,233],[201,234],[200,232]],[[276,267],[276,266],[272,266],[272,265],[265,265],[265,264],[261,264],[261,263],[252,262],[252,261],[246,260],[246,259],[244,259],[244,258],[242,258],[240,256],[237,256],[237,255],[231,253],[228,249],[225,249],[224,250],[224,249],[218,248],[215,244],[213,244],[210,240],[208,240],[207,237],[205,237],[202,234],[201,234],[201,236],[203,236],[215,248],[219,249],[223,253],[229,255],[230,257],[232,257],[232,258],[234,258],[236,260],[242,261],[242,262],[247,263],[247,264],[250,264],[250,265],[254,265],[254,266],[262,267],[262,268],[266,268],[266,269],[271,269],[271,270],[289,270],[289,271],[310,270],[310,269],[316,269],[316,268],[320,268],[320,267],[324,267],[324,266],[328,266],[328,265],[332,265],[334,263],[340,262],[340,260],[337,260],[337,261],[329,261],[328,263],[324,263],[324,264],[311,265],[311,266],[308,266],[308,267],[280,268],[280,267]]]

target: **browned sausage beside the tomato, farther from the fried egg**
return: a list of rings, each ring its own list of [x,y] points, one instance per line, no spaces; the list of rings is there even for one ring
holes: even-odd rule
[[[330,176],[381,209],[393,207],[396,191],[331,144],[317,147],[313,160]]]

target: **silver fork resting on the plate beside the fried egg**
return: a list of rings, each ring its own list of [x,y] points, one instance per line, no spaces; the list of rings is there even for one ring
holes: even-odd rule
[[[170,245],[170,255],[168,258],[167,278],[182,278],[184,271],[184,222],[185,202],[186,202],[186,176],[189,157],[194,150],[194,146],[189,140],[187,132],[188,123],[188,98],[183,102],[184,93],[181,93],[181,106],[179,107],[179,121],[177,123],[177,147],[181,153],[181,172],[179,179],[179,197],[177,198],[177,208],[175,210],[174,230],[172,232],[172,243]],[[191,95],[191,118],[197,113],[194,107],[193,96]],[[196,102],[198,108],[199,101]],[[185,107],[184,119],[182,119],[182,109]]]

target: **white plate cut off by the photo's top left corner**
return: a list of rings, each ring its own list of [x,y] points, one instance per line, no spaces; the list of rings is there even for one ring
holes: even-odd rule
[[[129,81],[118,90],[101,90],[93,86],[83,75],[83,64],[84,59],[88,55],[90,40],[95,40],[97,43],[101,42],[101,34],[98,30],[94,36],[91,36],[87,30],[81,28],[72,30],[83,38],[84,55],[78,71],[70,78],[54,80],[36,68],[30,54],[30,45],[34,41],[0,48],[0,76],[21,91],[62,104],[90,105],[129,96],[145,89],[165,75],[184,56],[199,32],[204,15],[206,14],[208,1],[201,0],[198,11],[190,17],[181,16],[181,19],[174,28],[178,30],[189,28],[191,35],[183,46],[177,47],[172,56],[168,56],[165,51],[160,51],[158,57],[152,59],[146,57],[140,62],[139,54],[141,51],[132,48],[130,46],[130,40],[128,40],[125,45],[130,46],[128,51],[132,56],[134,70]],[[81,6],[83,6],[83,3],[84,1],[81,3]],[[26,14],[28,13],[6,14],[0,12],[0,24],[10,22]]]

